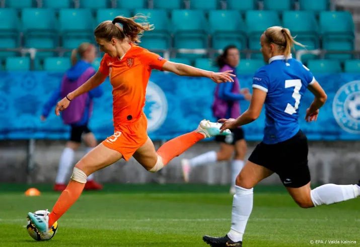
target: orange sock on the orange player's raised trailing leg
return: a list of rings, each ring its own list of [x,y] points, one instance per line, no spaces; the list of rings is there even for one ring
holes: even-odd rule
[[[157,153],[161,156],[161,158],[163,158],[163,164],[166,166],[169,161],[181,155],[202,139],[205,139],[203,134],[193,131],[166,142],[159,148]]]

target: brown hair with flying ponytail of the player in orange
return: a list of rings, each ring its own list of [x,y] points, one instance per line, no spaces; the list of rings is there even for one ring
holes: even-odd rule
[[[136,23],[135,20],[142,19],[143,22]],[[119,24],[122,25],[122,27]],[[131,18],[126,18],[123,16],[117,16],[113,21],[105,21],[100,23],[95,31],[94,35],[96,38],[105,39],[111,41],[112,38],[117,38],[118,40],[128,40],[137,44],[140,43],[140,35],[145,31],[153,30],[153,25],[150,25],[147,22],[146,16],[135,15]]]

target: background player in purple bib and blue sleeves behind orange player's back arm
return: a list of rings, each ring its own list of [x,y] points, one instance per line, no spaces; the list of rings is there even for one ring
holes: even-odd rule
[[[80,57],[80,60],[78,59]],[[50,110],[56,105],[57,101],[65,97],[69,92],[75,90],[95,74],[91,63],[96,58],[96,48],[90,43],[82,43],[71,53],[71,64],[62,78],[60,86],[54,90],[51,97],[45,103],[41,115],[44,121],[49,115]],[[64,151],[61,154],[59,168],[55,180],[54,190],[63,191],[66,188],[65,182],[71,168],[73,168],[75,151],[81,145],[82,135],[84,134],[84,143],[87,146],[88,153],[97,146],[97,140],[91,130],[88,128],[89,120],[93,110],[93,98],[100,97],[103,94],[101,86],[94,88],[88,93],[77,97],[71,102],[71,105],[62,112],[61,117],[65,125],[71,128],[70,139],[67,141]],[[94,181],[94,174],[88,177],[85,184],[86,190],[100,190],[102,185]]]

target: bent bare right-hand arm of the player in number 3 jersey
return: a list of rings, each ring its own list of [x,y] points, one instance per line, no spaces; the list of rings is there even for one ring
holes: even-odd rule
[[[310,107],[306,110],[305,119],[307,122],[316,121],[318,119],[319,109],[326,102],[327,95],[324,89],[320,86],[320,84],[315,81],[311,85],[308,86],[308,89],[314,94],[314,101],[311,103]]]

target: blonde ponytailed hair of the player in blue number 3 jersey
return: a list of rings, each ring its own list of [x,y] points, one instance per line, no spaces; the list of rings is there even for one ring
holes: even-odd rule
[[[294,45],[305,47],[303,44],[295,41],[295,37],[291,36],[290,30],[287,28],[274,26],[266,29],[264,35],[267,43],[277,45],[285,56],[291,55],[291,50],[294,48]]]

